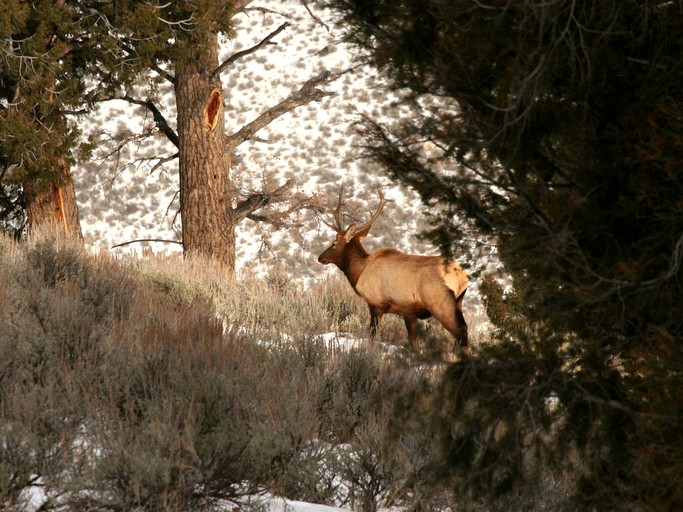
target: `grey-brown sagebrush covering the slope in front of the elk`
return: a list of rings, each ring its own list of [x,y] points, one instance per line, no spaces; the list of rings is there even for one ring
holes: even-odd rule
[[[372,510],[396,486],[385,426],[414,370],[316,336],[365,323],[348,283],[226,281],[54,236],[0,239],[0,277],[5,508],[32,483],[44,509],[94,510],[210,509],[263,490]]]

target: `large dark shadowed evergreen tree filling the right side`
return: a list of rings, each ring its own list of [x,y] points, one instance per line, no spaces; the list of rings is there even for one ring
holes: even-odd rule
[[[513,280],[482,281],[500,342],[444,380],[441,476],[492,504],[551,467],[572,506],[683,507],[680,5],[333,3],[422,113],[365,119],[366,156]]]

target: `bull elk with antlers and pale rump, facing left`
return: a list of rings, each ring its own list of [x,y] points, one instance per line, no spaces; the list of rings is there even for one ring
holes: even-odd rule
[[[467,323],[462,314],[462,301],[467,291],[467,275],[455,262],[440,256],[417,256],[383,247],[370,254],[361,240],[379,217],[390,199],[380,188],[379,206],[367,224],[342,227],[340,214],[344,189],[339,191],[332,215],[334,225],[325,224],[337,232],[330,247],[318,257],[324,265],[334,263],[344,272],[354,291],[370,307],[370,337],[385,313],[400,315],[408,330],[408,340],[418,351],[416,326],[418,319],[434,317],[461,347],[468,347]]]

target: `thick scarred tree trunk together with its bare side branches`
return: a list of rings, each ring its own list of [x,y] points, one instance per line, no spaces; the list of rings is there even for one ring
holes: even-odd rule
[[[233,207],[235,191],[230,161],[237,147],[273,120],[330,93],[317,87],[327,83],[331,73],[323,70],[310,78],[277,105],[269,108],[237,132],[225,133],[225,114],[220,71],[229,64],[264,46],[288,26],[283,24],[251,49],[238,52],[219,65],[218,38],[207,35],[204,44],[194,44],[192,57],[175,63],[173,86],[177,107],[177,137],[150,102],[140,102],[162,125],[169,140],[178,147],[180,214],[185,257],[202,255],[216,262],[228,275],[235,272],[235,228],[245,217],[269,204],[277,195],[256,194]],[[131,101],[130,99],[128,101]],[[288,185],[287,185],[288,186]],[[284,188],[281,187],[281,188]]]

